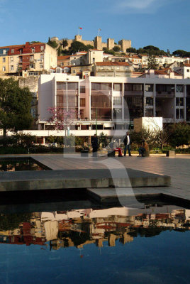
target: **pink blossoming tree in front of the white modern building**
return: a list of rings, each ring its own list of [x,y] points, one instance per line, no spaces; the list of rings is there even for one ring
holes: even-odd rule
[[[66,136],[67,130],[69,131],[69,126],[74,124],[74,121],[77,120],[77,111],[74,109],[67,111],[62,107],[50,107],[47,110],[50,111],[52,115],[48,122],[54,124],[57,131],[65,130]]]

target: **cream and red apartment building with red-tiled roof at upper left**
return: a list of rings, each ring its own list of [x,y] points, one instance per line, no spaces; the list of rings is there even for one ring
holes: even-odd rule
[[[40,75],[57,66],[57,51],[46,43],[6,46],[0,48],[0,58],[0,69],[8,75]]]

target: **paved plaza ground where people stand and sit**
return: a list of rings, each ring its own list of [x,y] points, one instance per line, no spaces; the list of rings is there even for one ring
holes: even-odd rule
[[[5,158],[6,156],[10,157],[10,155],[1,155],[0,158]],[[28,155],[11,156],[26,157]],[[148,158],[139,158],[137,155],[133,155],[132,157],[127,155],[122,158],[108,158],[106,156],[92,158],[91,154],[89,157],[83,158],[78,153],[65,155],[31,154],[29,156],[52,170],[73,170],[73,173],[76,173],[76,175],[78,170],[94,170],[94,175],[96,175],[97,169],[108,169],[112,173],[118,173],[119,169],[128,168],[147,173],[155,173],[157,175],[168,175],[172,180],[170,187],[137,187],[134,189],[135,194],[152,195],[163,193],[190,200],[190,155],[176,155],[175,158],[168,158],[165,155],[150,155]],[[117,170],[114,171],[114,169]],[[50,171],[48,175],[53,175],[53,173]]]

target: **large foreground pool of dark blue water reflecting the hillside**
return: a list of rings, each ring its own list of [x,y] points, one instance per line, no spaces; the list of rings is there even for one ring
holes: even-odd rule
[[[1,211],[0,283],[189,283],[189,220],[163,202]]]

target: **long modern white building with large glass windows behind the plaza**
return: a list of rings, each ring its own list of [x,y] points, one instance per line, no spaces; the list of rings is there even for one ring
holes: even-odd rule
[[[49,107],[77,112],[70,133],[93,136],[96,129],[121,137],[133,119],[162,117],[163,123],[190,123],[189,80],[133,77],[87,77],[64,74],[41,75],[39,81],[40,136],[57,135],[48,123]]]

